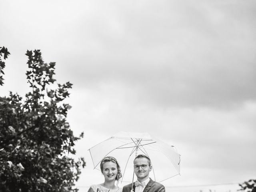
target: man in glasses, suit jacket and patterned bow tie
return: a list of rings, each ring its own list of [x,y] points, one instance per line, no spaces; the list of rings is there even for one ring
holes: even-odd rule
[[[134,172],[137,176],[135,183],[123,187],[122,192],[165,192],[162,184],[149,178],[149,172],[152,170],[150,158],[146,155],[138,155],[134,159]]]

